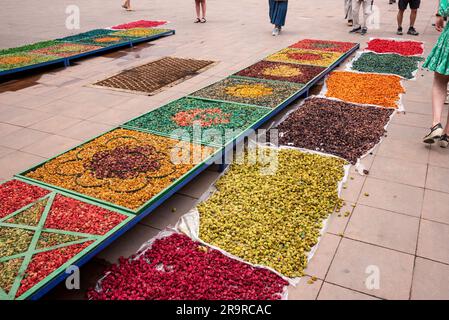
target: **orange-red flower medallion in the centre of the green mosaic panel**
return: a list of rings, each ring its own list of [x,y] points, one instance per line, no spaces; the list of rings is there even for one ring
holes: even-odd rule
[[[180,127],[190,127],[196,123],[202,128],[208,128],[214,125],[229,123],[231,121],[231,114],[225,113],[219,108],[198,108],[178,112],[173,116],[173,121]]]

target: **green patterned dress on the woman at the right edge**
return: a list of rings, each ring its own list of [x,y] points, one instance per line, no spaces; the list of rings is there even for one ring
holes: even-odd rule
[[[439,14],[443,17],[449,16],[449,0],[440,1]],[[444,28],[423,67],[440,74],[449,75],[449,24]]]

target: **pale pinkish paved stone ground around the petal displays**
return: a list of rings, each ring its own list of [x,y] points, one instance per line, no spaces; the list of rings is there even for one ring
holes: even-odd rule
[[[0,47],[12,47],[70,34],[64,27],[65,7],[81,8],[81,31],[134,21],[167,19],[176,36],[106,56],[83,60],[68,69],[51,70],[0,85],[0,178],[7,179],[81,141],[138,114],[213,83],[301,38],[359,41],[368,36],[393,37],[396,6],[378,0],[380,28],[367,37],[349,35],[342,1],[290,1],[287,27],[273,38],[267,1],[209,0],[205,25],[193,24],[193,1],[133,1],[124,12],[120,1],[7,1],[0,12]],[[418,39],[435,43],[432,1],[423,1]],[[153,96],[138,96],[85,87],[95,80],[162,56],[207,58],[220,63],[207,72]],[[329,228],[307,269],[316,276],[290,288],[290,299],[449,299],[449,161],[448,151],[425,147],[420,139],[431,123],[432,74],[419,73],[406,83],[406,114],[395,117],[388,137],[363,160],[367,177],[343,192],[349,218],[332,215]],[[447,112],[447,109],[446,109]],[[134,253],[195,205],[216,178],[208,170],[167,203],[112,244],[82,269],[83,288],[102,271],[102,260]],[[369,193],[369,197],[364,197]],[[357,204],[356,208],[350,204]],[[176,213],[171,208],[177,208]],[[346,209],[344,209],[346,210]],[[343,235],[343,236],[341,236]],[[380,268],[380,288],[368,290],[367,266]],[[47,298],[80,298],[62,286]]]

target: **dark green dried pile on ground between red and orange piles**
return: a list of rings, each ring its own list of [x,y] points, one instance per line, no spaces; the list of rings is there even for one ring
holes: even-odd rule
[[[395,74],[413,79],[418,70],[421,57],[405,57],[397,54],[363,53],[353,62],[352,69],[360,72]]]

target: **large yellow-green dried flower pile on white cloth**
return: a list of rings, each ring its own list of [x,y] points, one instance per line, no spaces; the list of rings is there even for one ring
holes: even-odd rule
[[[248,153],[244,164],[233,164],[218,180],[218,191],[198,206],[200,238],[252,264],[300,277],[323,220],[342,205],[337,188],[347,162],[269,148],[259,149],[258,159],[267,152],[276,153],[274,174],[261,171],[265,161],[247,161]]]

